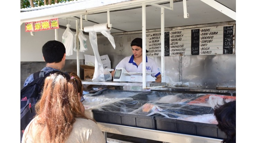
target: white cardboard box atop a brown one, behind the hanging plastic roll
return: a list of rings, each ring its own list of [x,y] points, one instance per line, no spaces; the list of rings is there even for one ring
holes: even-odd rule
[[[108,55],[100,56],[103,69],[111,69],[111,61],[109,60]],[[84,54],[84,63],[86,65],[95,65],[95,56]]]

